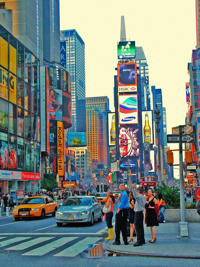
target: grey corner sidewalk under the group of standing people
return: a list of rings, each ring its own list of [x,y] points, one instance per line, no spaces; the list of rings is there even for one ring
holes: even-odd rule
[[[156,228],[156,242],[150,244],[151,239],[150,227],[144,225],[144,234],[146,244],[139,247],[133,247],[134,242],[124,245],[121,236],[121,245],[113,245],[113,240],[108,240],[105,249],[111,253],[124,256],[153,256],[169,258],[194,258],[200,259],[200,223],[188,223],[190,238],[177,238],[178,222],[160,223]]]

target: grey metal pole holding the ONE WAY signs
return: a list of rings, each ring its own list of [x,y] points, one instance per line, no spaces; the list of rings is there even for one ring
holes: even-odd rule
[[[182,125],[179,125],[179,160],[180,160],[180,207],[181,222],[185,222],[185,197],[184,197],[184,177],[183,177],[183,148],[182,148]]]

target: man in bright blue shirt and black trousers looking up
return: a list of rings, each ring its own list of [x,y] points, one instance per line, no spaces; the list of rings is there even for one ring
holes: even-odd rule
[[[124,241],[124,245],[128,245],[127,242],[127,218],[128,218],[128,196],[125,191],[125,185],[120,184],[119,190],[121,191],[121,195],[118,197],[118,210],[115,215],[115,242],[113,245],[120,245],[120,232],[122,232],[122,237]]]

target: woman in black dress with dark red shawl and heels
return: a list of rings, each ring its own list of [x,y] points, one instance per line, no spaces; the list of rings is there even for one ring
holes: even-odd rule
[[[147,227],[151,227],[151,234],[152,238],[149,240],[149,243],[154,243],[156,242],[156,237],[155,237],[155,227],[154,226],[159,226],[158,224],[158,201],[157,199],[153,196],[153,190],[149,189],[147,191],[148,198],[146,200],[146,214],[145,214],[145,223],[147,224]]]

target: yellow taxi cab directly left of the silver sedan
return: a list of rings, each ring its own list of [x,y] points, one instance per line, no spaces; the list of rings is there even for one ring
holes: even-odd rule
[[[24,201],[13,210],[15,221],[20,218],[40,217],[44,219],[45,215],[56,215],[58,204],[48,196],[27,197]]]

